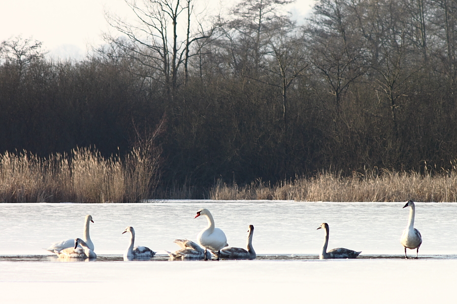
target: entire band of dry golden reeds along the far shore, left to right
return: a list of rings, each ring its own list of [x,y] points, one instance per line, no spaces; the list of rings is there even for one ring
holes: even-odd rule
[[[147,149],[146,149],[147,150]],[[39,158],[25,151],[0,155],[0,202],[140,202],[145,199],[295,200],[326,202],[457,202],[457,165],[452,170],[354,173],[322,171],[275,185],[257,180],[240,186],[217,181],[209,189],[185,185],[157,188],[158,157],[135,147],[124,158],[96,149]]]

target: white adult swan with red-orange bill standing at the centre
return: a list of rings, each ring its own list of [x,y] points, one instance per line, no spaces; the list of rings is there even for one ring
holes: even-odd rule
[[[205,248],[205,260],[207,259],[207,249],[211,250],[212,252],[217,251],[217,260],[219,260],[220,250],[228,246],[227,238],[225,237],[225,234],[222,230],[214,227],[214,219],[211,215],[211,212],[209,212],[208,209],[200,209],[199,211],[197,211],[197,215],[195,215],[194,218],[197,218],[201,215],[206,216],[208,220],[208,227],[206,227],[199,233],[199,235],[197,236],[197,241],[200,243],[202,247]]]

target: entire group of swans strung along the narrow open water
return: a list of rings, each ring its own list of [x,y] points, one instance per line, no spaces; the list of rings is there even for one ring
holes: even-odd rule
[[[415,204],[413,201],[408,201],[403,208],[409,207],[409,218],[406,229],[400,238],[400,242],[404,247],[405,258],[408,258],[406,249],[416,249],[416,257],[418,258],[419,247],[422,244],[422,236],[420,232],[414,228]],[[206,217],[208,225],[200,231],[197,236],[197,243],[188,239],[176,239],[176,243],[180,249],[174,252],[166,251],[170,259],[204,259],[204,260],[219,260],[223,259],[255,259],[256,253],[252,246],[254,234],[254,225],[248,227],[248,237],[246,241],[246,249],[239,247],[228,247],[225,233],[217,228],[214,223],[214,218],[211,212],[202,208],[197,211],[197,217]],[[62,259],[95,259],[97,255],[94,252],[94,245],[89,235],[89,225],[93,223],[92,216],[86,215],[84,218],[83,238],[68,239],[51,244],[46,250],[56,254]],[[362,251],[354,251],[347,248],[335,248],[327,251],[329,245],[330,227],[328,223],[321,223],[317,229],[323,229],[325,232],[324,243],[319,253],[320,259],[337,259],[337,258],[356,258]],[[125,250],[124,260],[133,259],[150,259],[154,257],[156,252],[148,247],[135,246],[135,230],[132,226],[127,226],[122,234],[130,233],[128,247]],[[135,246],[135,247],[134,247]],[[212,254],[216,258],[213,258]]]

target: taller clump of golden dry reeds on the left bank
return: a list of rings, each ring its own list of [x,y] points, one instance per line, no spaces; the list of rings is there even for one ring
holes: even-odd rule
[[[0,202],[138,202],[152,196],[158,156],[134,147],[122,160],[99,151],[74,149],[70,156],[0,156]]]

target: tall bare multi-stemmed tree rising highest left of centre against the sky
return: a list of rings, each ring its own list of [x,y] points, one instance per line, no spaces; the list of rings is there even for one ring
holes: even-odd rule
[[[126,36],[126,39],[119,39],[106,33],[106,40],[123,51],[116,56],[125,56],[151,71],[159,71],[160,77],[156,81],[162,82],[166,93],[173,98],[181,64],[184,64],[185,80],[187,79],[187,62],[192,56],[190,46],[195,41],[211,36],[214,28],[205,26],[200,21],[195,21],[197,26],[192,25],[192,0],[143,0],[141,3],[136,0],[124,1],[136,20],[126,21],[106,13],[109,24]],[[186,24],[185,39],[179,39],[178,35],[178,24],[181,22]],[[100,51],[106,54],[103,49]]]

